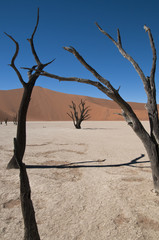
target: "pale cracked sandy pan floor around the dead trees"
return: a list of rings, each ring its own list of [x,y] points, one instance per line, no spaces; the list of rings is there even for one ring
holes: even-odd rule
[[[82,127],[27,123],[24,162],[41,240],[159,239],[159,197],[151,191],[150,163],[140,140],[125,122]],[[2,240],[21,240],[24,233],[19,171],[6,170],[15,134],[13,123],[0,125]]]

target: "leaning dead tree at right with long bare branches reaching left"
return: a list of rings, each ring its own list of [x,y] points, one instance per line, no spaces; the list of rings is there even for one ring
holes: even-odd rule
[[[122,109],[123,117],[128,122],[128,125],[133,129],[133,131],[137,134],[137,136],[142,141],[148,157],[151,162],[152,169],[152,177],[154,188],[156,192],[159,192],[159,119],[158,119],[158,109],[156,102],[156,86],[155,86],[155,71],[156,71],[156,48],[153,41],[153,36],[151,34],[150,28],[144,26],[145,31],[148,33],[153,60],[152,60],[152,68],[150,72],[150,76],[146,77],[143,73],[142,69],[138,65],[138,63],[124,50],[121,41],[121,35],[119,29],[117,30],[117,40],[115,40],[111,35],[105,32],[97,23],[96,26],[98,29],[108,37],[113,44],[118,48],[119,52],[122,54],[124,58],[126,58],[134,67],[138,75],[140,76],[145,92],[147,94],[147,112],[149,116],[150,123],[150,133],[148,133],[136,114],[134,113],[131,106],[124,101],[124,99],[119,94],[119,89],[115,89],[110,81],[102,77],[94,68],[92,68],[79,54],[79,52],[73,47],[64,47],[64,49],[71,54],[73,54],[77,60],[88,70],[90,71],[96,78],[97,81],[93,81],[90,79],[83,79],[78,77],[61,77],[48,72],[42,72],[43,76],[51,77],[54,79],[58,79],[60,81],[76,81],[80,83],[85,83],[92,85],[98,88],[100,91],[105,93],[109,98],[114,100]]]

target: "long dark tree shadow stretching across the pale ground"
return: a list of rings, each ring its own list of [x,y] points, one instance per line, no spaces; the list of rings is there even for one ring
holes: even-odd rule
[[[140,160],[144,157],[145,157],[145,154],[141,154],[141,156],[134,158],[130,162],[121,163],[121,164],[108,164],[108,165],[99,164],[107,161],[106,159],[103,159],[103,160],[97,160],[97,161],[72,162],[72,163],[66,163],[61,165],[26,165],[26,168],[39,168],[39,169],[40,168],[42,169],[62,168],[63,169],[63,168],[108,168],[108,167],[123,167],[123,166],[137,167],[137,168],[150,168],[150,166],[137,166],[137,164],[150,162],[150,161]],[[98,164],[92,164],[92,163],[98,163]]]

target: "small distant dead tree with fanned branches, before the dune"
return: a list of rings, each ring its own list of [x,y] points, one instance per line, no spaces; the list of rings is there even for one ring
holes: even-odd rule
[[[70,113],[67,113],[68,116],[73,120],[73,124],[75,128],[81,129],[81,123],[84,120],[88,120],[90,118],[90,108],[89,106],[85,106],[86,102],[81,99],[80,104],[78,105],[78,109],[76,108],[76,104],[72,101],[72,105],[69,105],[71,108]]]

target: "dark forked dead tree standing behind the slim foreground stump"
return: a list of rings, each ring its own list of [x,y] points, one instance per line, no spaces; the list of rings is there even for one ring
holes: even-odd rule
[[[19,107],[19,111],[18,111],[18,124],[17,124],[17,136],[16,136],[16,141],[17,141],[17,146],[18,146],[18,156],[20,161],[22,162],[23,160],[23,156],[24,156],[24,152],[25,152],[25,147],[26,147],[26,116],[27,116],[27,111],[28,111],[28,107],[29,107],[29,103],[30,103],[30,99],[31,99],[31,94],[32,94],[32,90],[34,88],[35,82],[38,79],[41,71],[50,63],[53,62],[53,60],[49,63],[43,64],[41,63],[36,51],[35,51],[35,47],[34,47],[34,35],[36,33],[37,27],[38,27],[38,23],[39,23],[39,10],[38,10],[38,16],[37,16],[37,22],[36,22],[36,26],[34,28],[33,34],[31,36],[31,38],[27,39],[30,43],[31,46],[31,50],[32,50],[32,54],[34,56],[34,59],[36,61],[36,65],[34,65],[31,69],[28,71],[28,82],[25,82],[22,78],[22,75],[20,73],[20,71],[18,70],[18,68],[15,66],[15,60],[16,57],[19,53],[19,44],[18,42],[10,35],[8,35],[7,33],[5,33],[16,45],[16,50],[14,53],[14,56],[12,58],[11,64],[10,66],[14,69],[14,71],[16,72],[23,88],[24,88],[24,92],[23,92],[23,96],[22,96],[22,100],[20,103],[20,107]],[[28,68],[24,68],[24,69],[28,69]],[[36,69],[36,72],[33,72],[33,70]],[[18,168],[15,156],[13,155],[12,159],[10,160],[10,162],[8,163],[7,169],[10,168]]]

